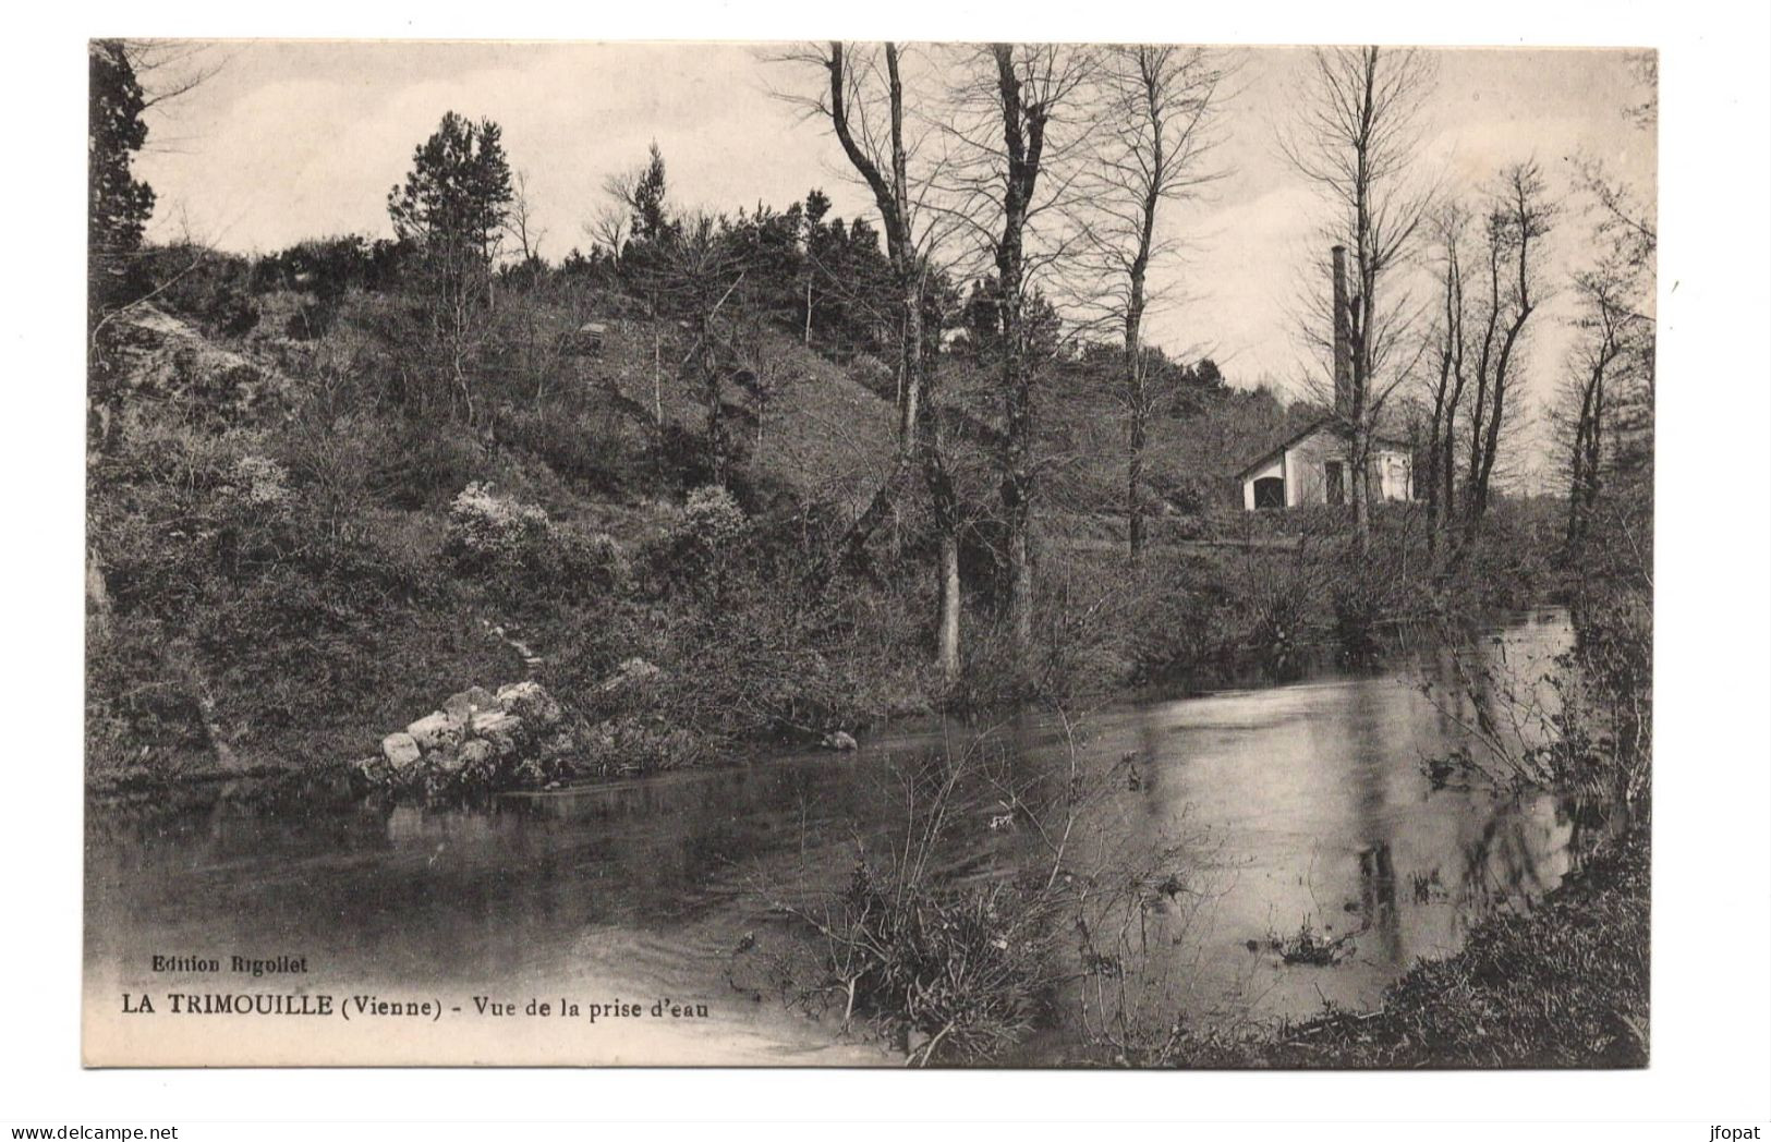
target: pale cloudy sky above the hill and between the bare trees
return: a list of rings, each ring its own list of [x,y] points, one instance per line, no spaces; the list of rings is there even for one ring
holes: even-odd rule
[[[632,168],[653,140],[680,205],[735,211],[786,205],[816,186],[834,212],[871,214],[827,126],[772,89],[808,74],[754,44],[230,41],[188,60],[220,71],[156,108],[138,172],[158,193],[152,237],[189,234],[223,250],[269,251],[305,237],[391,234],[388,189],[443,112],[489,117],[528,177],[545,232],[542,253],[588,246],[602,182]],[[1652,99],[1624,51],[1484,50],[1431,53],[1419,177],[1475,191],[1507,163],[1535,159],[1569,209],[1548,241],[1548,276],[1590,260],[1571,195],[1576,159],[1596,158],[1652,204],[1656,140],[1624,115]],[[1183,358],[1208,354],[1234,384],[1303,391],[1312,368],[1300,290],[1319,273],[1325,205],[1288,168],[1279,129],[1295,113],[1309,53],[1238,48],[1211,163],[1224,172],[1201,202],[1167,209],[1185,241],[1153,271],[1174,303],[1149,338]],[[1326,289],[1326,282],[1323,283]],[[1566,294],[1550,296],[1525,358],[1541,409],[1569,349]],[[1539,418],[1541,421],[1541,418]],[[1544,448],[1532,434],[1530,451]]]

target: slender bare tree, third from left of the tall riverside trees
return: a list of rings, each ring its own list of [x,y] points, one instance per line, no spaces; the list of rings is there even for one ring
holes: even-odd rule
[[[1172,258],[1178,241],[1158,228],[1164,204],[1187,202],[1222,177],[1208,168],[1210,133],[1224,66],[1204,48],[1114,46],[1102,53],[1100,165],[1087,175],[1089,258],[1102,274],[1094,305],[1125,335],[1126,542],[1144,547],[1144,446],[1153,409],[1144,317],[1164,297],[1149,289],[1151,266]]]

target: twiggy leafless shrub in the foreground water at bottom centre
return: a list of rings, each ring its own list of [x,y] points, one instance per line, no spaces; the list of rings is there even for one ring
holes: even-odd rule
[[[1009,818],[1050,816],[1048,836],[1068,837],[1084,783],[1075,767],[1056,781],[1018,770],[983,738],[958,756],[894,765],[901,788],[886,804],[905,818],[886,825],[875,852],[857,837],[847,882],[831,868],[815,885],[770,892],[770,907],[809,937],[774,965],[783,997],[813,1015],[834,1006],[845,1030],[871,1023],[912,1064],[990,1059],[1022,1039],[1068,972],[1066,848],[1025,869],[992,868],[965,823],[1002,797]]]

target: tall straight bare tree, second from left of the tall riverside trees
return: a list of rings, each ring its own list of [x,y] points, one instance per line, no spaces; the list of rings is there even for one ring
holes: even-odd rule
[[[944,211],[971,234],[994,276],[997,397],[1002,409],[999,496],[1006,529],[1009,625],[1032,646],[1032,506],[1038,496],[1038,349],[1034,297],[1075,255],[1087,158],[1087,87],[1096,51],[1075,44],[965,50],[946,124],[951,168]],[[1024,659],[1025,660],[1025,659]]]

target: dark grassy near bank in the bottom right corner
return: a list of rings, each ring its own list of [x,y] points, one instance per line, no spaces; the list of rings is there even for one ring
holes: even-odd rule
[[[1649,1061],[1649,829],[1635,827],[1528,915],[1495,915],[1422,961],[1373,1013],[1334,1011],[1192,1066],[1642,1068]]]

